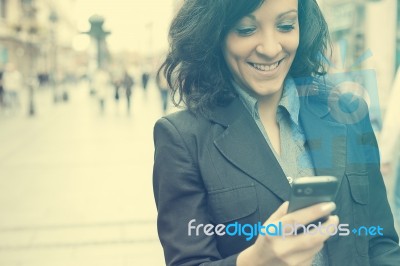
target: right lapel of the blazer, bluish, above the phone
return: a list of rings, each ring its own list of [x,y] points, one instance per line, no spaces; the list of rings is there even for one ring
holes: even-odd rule
[[[342,181],[346,167],[346,126],[337,123],[326,104],[310,104],[301,97],[300,122],[306,135],[316,175],[332,175]]]

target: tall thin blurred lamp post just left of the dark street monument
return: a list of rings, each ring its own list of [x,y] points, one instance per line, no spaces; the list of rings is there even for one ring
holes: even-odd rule
[[[57,96],[57,38],[56,38],[58,15],[54,9],[52,9],[50,12],[49,21],[51,23],[51,44],[52,44],[50,82],[51,82],[51,86],[53,88],[53,101],[56,103],[58,101],[58,96]]]

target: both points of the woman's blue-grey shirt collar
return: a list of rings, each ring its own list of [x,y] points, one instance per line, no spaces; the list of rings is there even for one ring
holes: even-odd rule
[[[233,86],[251,116],[253,118],[259,118],[257,99],[243,90],[236,82],[233,82]],[[299,94],[294,80],[290,77],[285,80],[282,97],[278,104],[278,113],[282,111],[281,109],[286,110],[289,113],[291,120],[296,123],[296,125],[299,124]]]

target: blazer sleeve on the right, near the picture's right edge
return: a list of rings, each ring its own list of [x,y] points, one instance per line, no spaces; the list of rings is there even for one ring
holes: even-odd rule
[[[362,138],[366,154],[366,165],[369,176],[370,224],[381,226],[383,236],[371,237],[369,241],[369,258],[371,265],[400,265],[399,238],[396,233],[393,215],[387,199],[386,189],[380,172],[380,158],[377,141],[367,116],[364,119]]]

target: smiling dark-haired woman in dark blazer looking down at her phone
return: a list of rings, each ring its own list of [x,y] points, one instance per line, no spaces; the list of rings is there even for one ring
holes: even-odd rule
[[[169,37],[162,71],[187,110],[154,128],[168,265],[400,265],[368,115],[319,81],[328,31],[315,0],[186,0]],[[287,213],[293,178],[316,175],[338,178],[335,203]],[[324,216],[383,234],[255,232]]]

